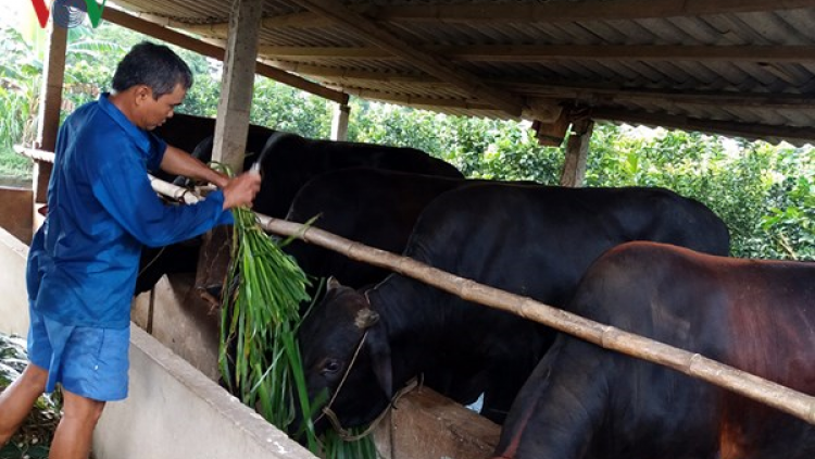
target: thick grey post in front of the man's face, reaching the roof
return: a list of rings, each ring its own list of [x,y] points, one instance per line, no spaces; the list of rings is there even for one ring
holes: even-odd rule
[[[262,13],[262,0],[235,0],[229,15],[212,159],[236,173],[243,170]]]

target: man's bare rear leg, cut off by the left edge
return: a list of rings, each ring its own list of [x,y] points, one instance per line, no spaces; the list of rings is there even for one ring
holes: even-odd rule
[[[0,447],[14,435],[46,389],[48,372],[28,363],[23,374],[0,394]]]

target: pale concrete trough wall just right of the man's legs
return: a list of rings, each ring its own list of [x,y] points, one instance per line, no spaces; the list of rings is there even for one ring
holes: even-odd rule
[[[141,328],[130,330],[130,393],[105,407],[97,459],[315,458]]]

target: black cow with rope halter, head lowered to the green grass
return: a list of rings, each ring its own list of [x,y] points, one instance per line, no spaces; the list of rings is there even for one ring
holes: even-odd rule
[[[718,255],[729,244],[725,224],[710,209],[665,189],[476,184],[434,200],[404,255],[562,306],[598,256],[637,239]],[[368,301],[379,320],[361,330],[355,319]],[[364,295],[335,287],[299,336],[312,398],[324,389],[333,395],[363,333],[365,349],[330,407],[346,426],[369,422],[396,386],[418,374],[463,404],[484,393],[481,412],[501,422],[554,339],[542,325],[401,275]]]

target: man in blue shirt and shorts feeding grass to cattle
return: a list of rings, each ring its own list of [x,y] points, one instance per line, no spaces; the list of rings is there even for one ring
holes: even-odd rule
[[[0,446],[42,392],[62,386],[64,415],[51,459],[86,459],[105,401],[127,396],[130,300],[142,245],[188,239],[251,206],[258,174],[234,179],[149,131],[173,116],[192,85],[167,47],[142,42],[118,64],[113,90],[60,128],[48,215],[28,256],[29,363],[0,395]],[[149,169],[209,181],[193,206],[161,203]]]

